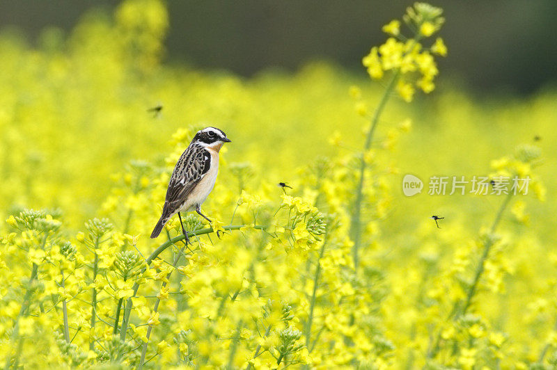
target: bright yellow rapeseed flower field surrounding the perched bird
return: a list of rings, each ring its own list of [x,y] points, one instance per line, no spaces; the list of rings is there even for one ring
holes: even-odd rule
[[[368,78],[168,65],[159,0],[1,34],[4,368],[557,367],[557,92],[474,97],[437,67],[440,8],[393,17]],[[207,126],[232,140],[214,222],[150,239]]]

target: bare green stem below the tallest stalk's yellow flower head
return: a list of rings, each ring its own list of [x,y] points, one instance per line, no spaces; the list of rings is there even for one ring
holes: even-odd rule
[[[359,248],[361,244],[361,204],[363,201],[363,180],[366,175],[367,168],[367,163],[363,159],[363,156],[368,150],[370,150],[373,135],[375,134],[375,129],[377,128],[377,124],[379,123],[379,118],[381,117],[381,114],[383,113],[383,110],[387,102],[389,101],[389,97],[391,97],[391,93],[393,92],[393,88],[395,87],[396,81],[398,81],[399,77],[400,72],[398,70],[393,72],[393,77],[391,77],[391,81],[389,81],[389,84],[387,85],[385,92],[383,93],[383,97],[379,101],[379,105],[373,113],[373,117],[370,122],[370,129],[366,138],[366,145],[364,145],[363,147],[359,169],[359,181],[358,186],[356,187],[356,199],[354,200],[354,212],[352,213],[352,220],[350,222],[350,236],[352,238],[352,241],[354,241],[354,246],[352,247],[354,268],[358,268]]]

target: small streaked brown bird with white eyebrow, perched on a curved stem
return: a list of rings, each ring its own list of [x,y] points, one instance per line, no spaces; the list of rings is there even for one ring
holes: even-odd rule
[[[201,213],[201,204],[205,202],[217,180],[219,151],[224,143],[230,141],[226,134],[216,127],[206,127],[197,131],[174,167],[168,182],[161,218],[152,230],[152,239],[159,236],[172,216],[178,214],[186,243],[189,243],[181,212],[196,211],[205,220],[211,222],[210,218]]]

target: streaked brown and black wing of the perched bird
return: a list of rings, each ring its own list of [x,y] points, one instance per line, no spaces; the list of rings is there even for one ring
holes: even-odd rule
[[[201,145],[191,144],[182,153],[168,183],[164,202],[167,213],[173,213],[187,200],[189,193],[209,170],[210,163],[211,154]]]

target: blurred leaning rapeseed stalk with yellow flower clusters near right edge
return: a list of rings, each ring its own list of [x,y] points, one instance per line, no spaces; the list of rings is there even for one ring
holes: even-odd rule
[[[497,230],[505,211],[513,204],[513,201],[515,201],[515,205],[511,207],[513,216],[520,223],[527,220],[522,207],[524,203],[517,198],[532,192],[539,200],[544,199],[544,187],[532,172],[532,169],[540,163],[540,154],[540,149],[534,145],[520,145],[512,156],[504,156],[492,161],[494,172],[489,175],[492,179],[490,183],[492,193],[498,192],[498,189],[504,186],[509,179],[511,179],[512,187],[505,191],[506,194],[500,192],[502,195],[505,194],[504,199],[496,211],[492,225],[482,232],[478,242],[473,243],[475,248],[470,250],[467,256],[457,257],[451,266],[455,274],[454,284],[460,286],[460,291],[455,294],[457,298],[450,304],[450,312],[448,312],[443,328],[434,336],[434,340],[427,350],[428,364],[435,364],[434,361],[440,361],[444,365],[458,362],[464,367],[471,367],[480,358],[483,362],[495,363],[498,361],[497,352],[500,351],[505,337],[489,328],[489,321],[483,318],[480,310],[474,307],[473,303],[477,300],[481,289],[496,293],[503,291],[502,273],[505,271],[505,263],[502,262],[501,257],[498,261],[495,251],[497,248],[500,249],[504,243]],[[460,253],[462,254],[462,252]],[[464,266],[473,266],[473,268],[469,271]],[[453,291],[457,291],[457,289],[453,289]],[[496,355],[493,357],[481,355],[478,348],[473,348],[473,341],[471,344],[465,344],[460,339],[466,336],[474,340],[487,337],[487,349],[494,351]],[[457,357],[455,357],[456,355]]]

